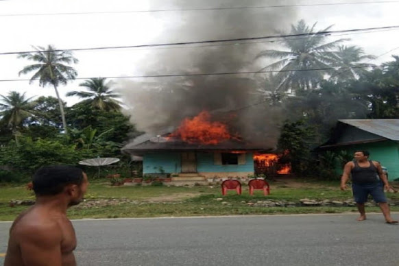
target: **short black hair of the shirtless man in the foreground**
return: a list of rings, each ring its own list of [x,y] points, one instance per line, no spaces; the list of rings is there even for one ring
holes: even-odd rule
[[[67,184],[80,185],[83,182],[83,171],[67,165],[41,167],[32,179],[36,195],[57,195]]]

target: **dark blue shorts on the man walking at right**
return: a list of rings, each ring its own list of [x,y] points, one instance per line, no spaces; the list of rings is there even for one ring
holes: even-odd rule
[[[376,203],[387,202],[384,187],[380,185],[380,182],[373,184],[352,184],[352,191],[356,203],[367,202],[369,194],[372,195],[374,202]]]

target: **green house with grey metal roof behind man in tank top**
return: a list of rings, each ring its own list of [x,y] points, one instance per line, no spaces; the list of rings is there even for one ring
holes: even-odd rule
[[[317,151],[354,153],[366,149],[370,160],[387,167],[389,180],[399,178],[399,119],[339,120],[331,138]],[[337,169],[342,173],[342,169]]]

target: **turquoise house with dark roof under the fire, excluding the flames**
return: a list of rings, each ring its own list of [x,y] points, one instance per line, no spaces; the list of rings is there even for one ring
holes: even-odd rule
[[[136,139],[123,152],[143,156],[143,175],[171,173],[175,176],[227,178],[254,174],[254,153],[271,148],[228,140],[215,145],[186,143],[168,134]]]

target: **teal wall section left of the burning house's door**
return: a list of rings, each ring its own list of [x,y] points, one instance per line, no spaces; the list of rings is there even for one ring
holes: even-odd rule
[[[159,167],[162,167],[165,173],[180,173],[180,153],[156,152],[144,154],[143,174],[160,173]]]

